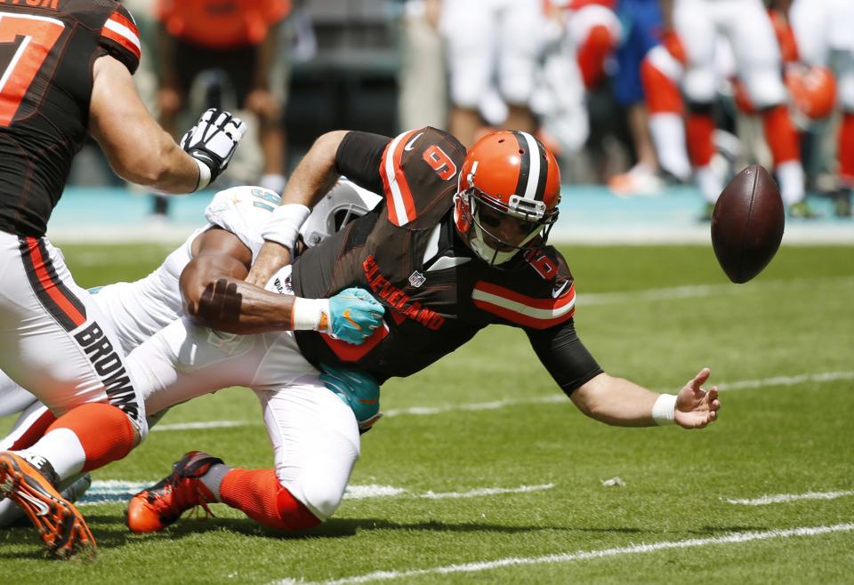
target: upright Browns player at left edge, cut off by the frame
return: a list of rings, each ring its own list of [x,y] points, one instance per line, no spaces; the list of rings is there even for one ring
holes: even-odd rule
[[[145,410],[47,222],[87,134],[124,179],[187,193],[222,172],[245,127],[212,110],[182,140],[187,152],[175,144],[137,95],[139,39],[116,2],[4,3],[0,36],[0,368],[59,416],[27,452],[0,453],[0,496],[25,510],[49,555],[94,554],[54,484],[124,457],[146,436]]]

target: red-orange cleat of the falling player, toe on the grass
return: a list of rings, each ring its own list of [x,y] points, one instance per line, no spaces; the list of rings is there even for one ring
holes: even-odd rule
[[[131,498],[127,507],[127,527],[133,533],[156,533],[171,525],[188,509],[201,506],[214,516],[207,504],[216,498],[200,477],[222,459],[190,451],[173,464],[173,472],[157,485],[142,490]]]

